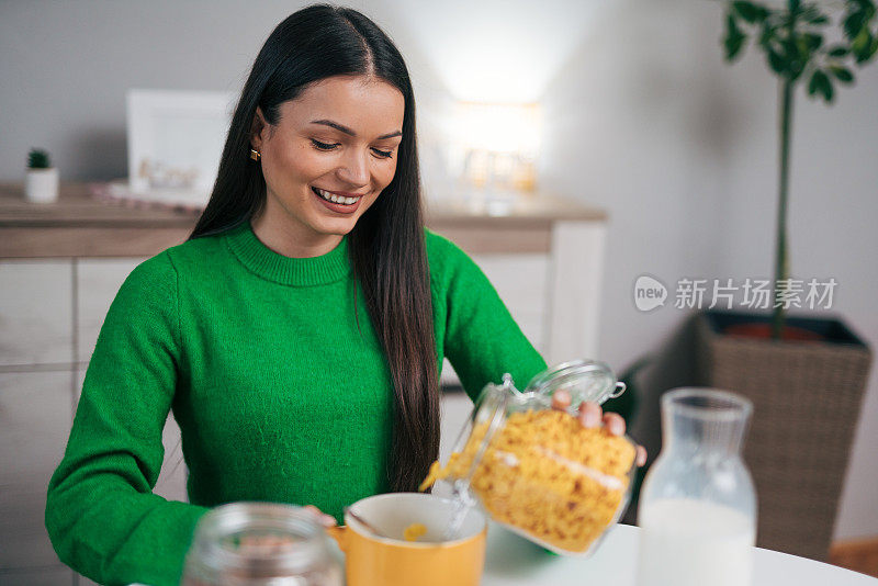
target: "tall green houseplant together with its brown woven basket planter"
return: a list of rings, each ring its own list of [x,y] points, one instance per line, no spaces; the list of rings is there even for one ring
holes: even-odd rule
[[[698,314],[689,354],[691,382],[741,393],[754,404],[744,458],[759,499],[757,543],[817,560],[829,553],[871,351],[841,319],[785,316],[785,304],[778,303],[791,283],[787,198],[793,102],[801,87],[832,103],[840,84],[854,82],[853,69],[878,52],[873,0],[844,0],[834,14],[825,5],[725,2],[725,58],[735,60],[752,41],[779,82],[775,303],[770,316]],[[793,328],[814,339],[789,336]],[[756,337],[742,335],[754,330]]]

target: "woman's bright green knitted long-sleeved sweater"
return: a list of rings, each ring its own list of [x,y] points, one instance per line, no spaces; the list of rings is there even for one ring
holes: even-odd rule
[[[439,367],[448,357],[471,397],[504,372],[526,384],[543,370],[476,264],[429,230],[426,246]],[[61,561],[102,584],[178,584],[209,507],[314,504],[340,518],[387,492],[393,390],[364,307],[347,238],[295,259],[246,222],[139,264],[106,315],[49,482]],[[190,503],[151,493],[171,409]]]

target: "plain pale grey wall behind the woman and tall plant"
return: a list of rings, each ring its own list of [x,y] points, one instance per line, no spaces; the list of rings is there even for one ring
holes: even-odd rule
[[[520,76],[527,83],[513,83],[519,91],[540,90],[543,185],[610,212],[600,347],[617,368],[654,349],[683,317],[673,307],[638,313],[637,275],[671,284],[770,273],[776,84],[756,57],[723,63],[718,2],[347,3],[384,26],[406,57],[425,162],[437,158],[431,142],[453,86],[452,56],[480,63],[486,75],[503,71],[497,82]],[[48,148],[64,179],[123,177],[127,88],[238,90],[273,26],[304,4],[0,2],[0,181],[22,180],[31,146]],[[876,98],[878,65],[841,91],[832,109],[798,101],[790,206],[795,274],[835,277],[834,307],[871,343],[878,340],[878,314],[868,306],[878,285],[878,233],[870,225],[878,218]],[[425,178],[439,181],[429,165]],[[878,534],[878,457],[868,449],[878,444],[876,370],[840,538]]]

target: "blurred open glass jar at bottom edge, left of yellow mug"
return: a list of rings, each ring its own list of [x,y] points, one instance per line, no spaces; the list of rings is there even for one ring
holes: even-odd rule
[[[341,586],[325,530],[300,507],[233,503],[195,528],[184,586]]]

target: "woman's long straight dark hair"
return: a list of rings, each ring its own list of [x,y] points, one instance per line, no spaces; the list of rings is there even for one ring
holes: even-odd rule
[[[250,160],[257,106],[270,125],[309,83],[339,75],[382,79],[405,98],[396,173],[348,235],[356,282],[382,341],[395,393],[387,480],[412,491],[439,453],[439,376],[415,136],[415,99],[403,57],[375,23],[348,8],[315,4],[281,22],[254,63],[232,117],[210,202],[190,239],[249,221],[266,180]]]

